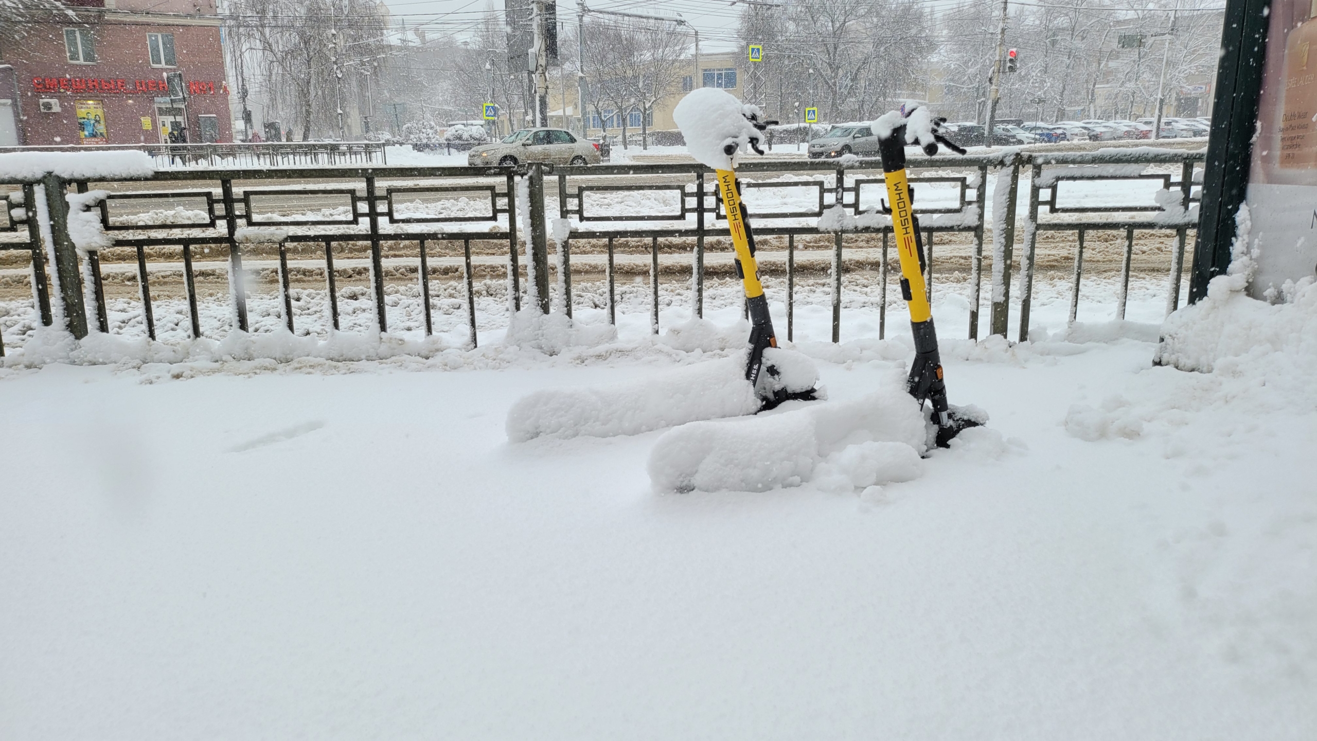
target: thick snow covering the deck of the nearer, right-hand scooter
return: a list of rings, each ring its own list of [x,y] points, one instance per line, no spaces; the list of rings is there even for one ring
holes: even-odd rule
[[[923,454],[926,439],[914,398],[892,389],[857,401],[677,427],[649,454],[649,479],[662,492],[763,492],[798,487],[815,473],[827,487],[839,477],[868,487],[918,476],[922,468],[910,456]]]

